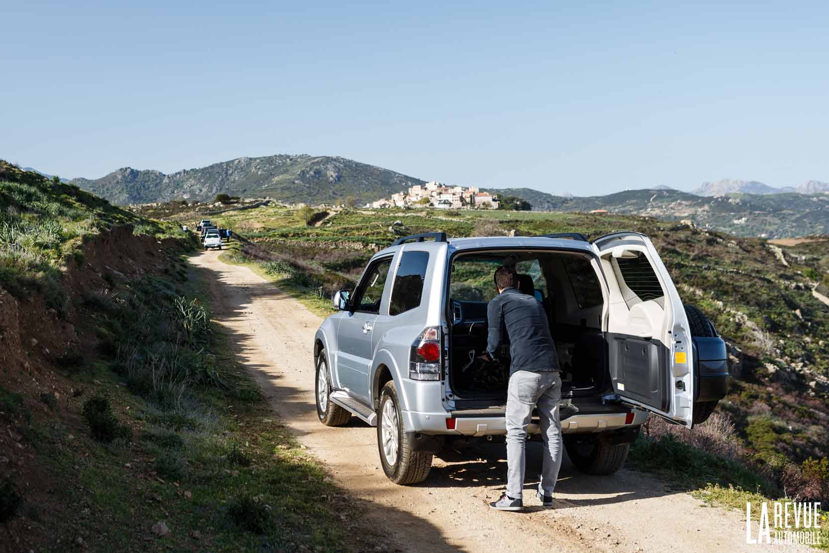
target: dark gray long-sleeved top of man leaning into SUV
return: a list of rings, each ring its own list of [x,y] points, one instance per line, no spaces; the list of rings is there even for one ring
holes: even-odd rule
[[[487,306],[487,353],[495,357],[506,327],[510,338],[510,376],[515,371],[559,371],[559,356],[550,336],[544,306],[514,287],[504,289]]]

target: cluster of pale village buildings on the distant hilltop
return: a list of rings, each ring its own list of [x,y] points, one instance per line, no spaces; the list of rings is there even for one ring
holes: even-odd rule
[[[366,203],[366,207],[436,207],[438,209],[498,209],[500,201],[478,187],[448,187],[437,181],[416,184],[408,192]]]

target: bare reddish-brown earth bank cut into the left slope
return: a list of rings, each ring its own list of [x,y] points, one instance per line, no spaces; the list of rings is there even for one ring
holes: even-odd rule
[[[31,423],[43,427],[54,417],[80,429],[80,419],[61,409],[80,394],[70,371],[94,355],[97,345],[94,331],[80,320],[78,306],[86,294],[104,291],[110,282],[162,272],[169,256],[184,248],[182,240],[133,235],[131,226],[96,236],[83,245],[83,260],[71,260],[64,271],[63,313],[48,308],[41,294],[16,298],[0,288],[0,422],[6,427],[0,432],[0,477],[9,478],[24,497],[24,517],[6,525],[0,551],[28,551],[22,544],[36,543],[38,535],[50,531],[49,521],[62,516],[63,506],[51,493],[61,482],[41,463],[27,437]]]

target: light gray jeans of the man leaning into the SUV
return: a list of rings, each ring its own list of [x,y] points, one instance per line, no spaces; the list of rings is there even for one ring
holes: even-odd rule
[[[538,405],[544,460],[541,464],[539,492],[553,494],[561,468],[561,421],[559,401],[561,379],[558,371],[516,371],[507,386],[507,495],[523,497],[526,427],[532,408]]]

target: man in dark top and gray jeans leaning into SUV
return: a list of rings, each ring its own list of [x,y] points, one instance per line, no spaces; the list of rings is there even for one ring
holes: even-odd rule
[[[490,507],[499,511],[524,508],[526,427],[538,405],[544,457],[536,497],[545,507],[553,504],[553,489],[561,468],[561,379],[559,357],[550,335],[544,306],[532,290],[519,290],[515,269],[502,265],[495,271],[498,295],[487,306],[487,352],[495,359],[506,328],[510,338],[510,380],[507,386],[507,491]]]

